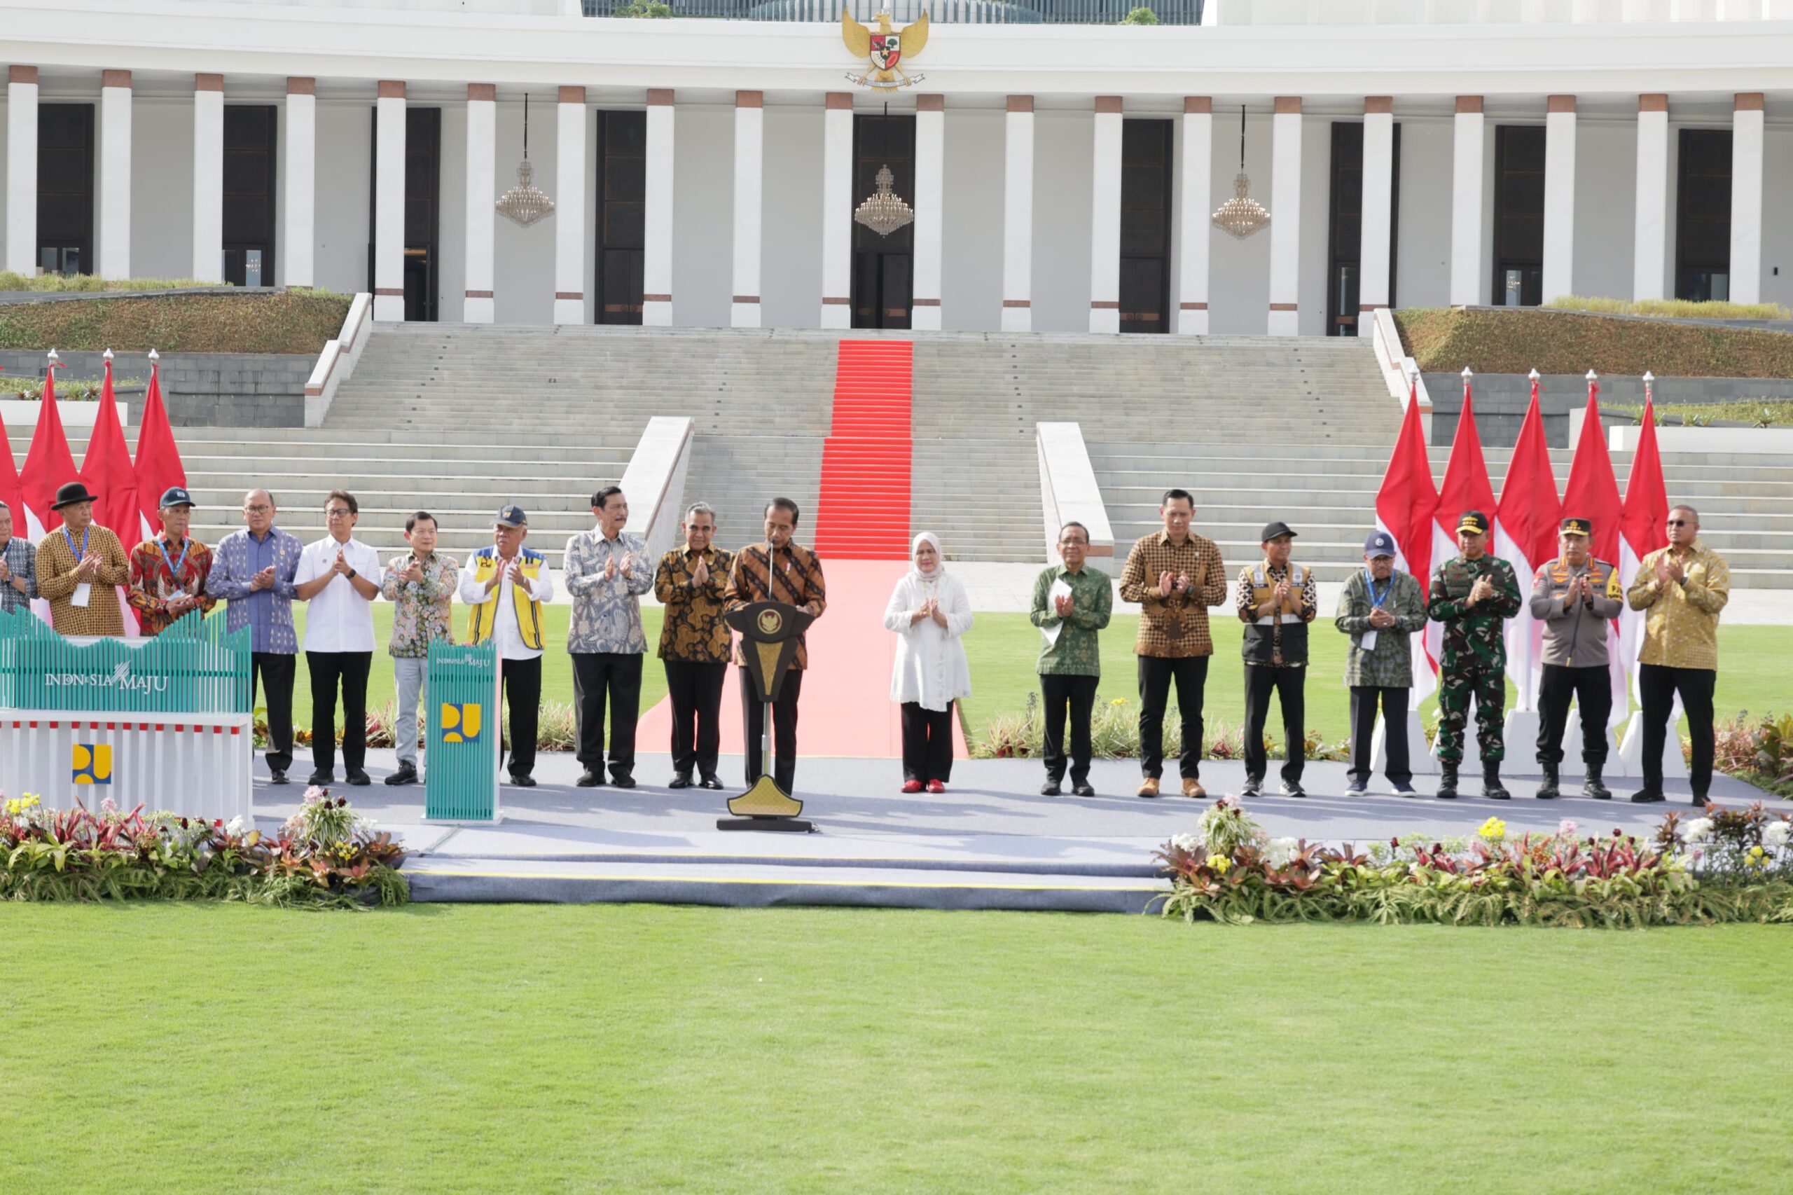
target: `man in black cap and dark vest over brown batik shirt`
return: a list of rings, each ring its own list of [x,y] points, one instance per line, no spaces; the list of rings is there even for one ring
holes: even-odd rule
[[[1307,763],[1307,624],[1320,612],[1312,569],[1289,563],[1295,531],[1286,522],[1264,528],[1262,563],[1239,572],[1239,621],[1244,623],[1244,788],[1241,797],[1262,797],[1264,721],[1269,694],[1282,703],[1282,795],[1305,797],[1302,768]]]

